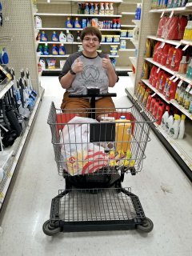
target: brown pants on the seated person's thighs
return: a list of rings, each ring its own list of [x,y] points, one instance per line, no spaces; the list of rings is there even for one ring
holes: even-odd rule
[[[66,110],[73,110],[74,112],[75,110],[75,112],[81,112],[81,114],[79,113],[80,116],[87,117],[89,115],[87,114],[87,109],[90,108],[90,100],[86,98],[69,98],[69,93],[65,92],[61,108],[63,112],[66,112]],[[113,112],[115,110],[114,102],[110,97],[104,97],[96,100],[95,108],[100,109],[99,113],[96,110],[96,116],[100,114],[109,114],[109,111]]]

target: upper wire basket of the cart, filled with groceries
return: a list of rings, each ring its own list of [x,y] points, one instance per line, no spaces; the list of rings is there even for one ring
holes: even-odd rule
[[[111,118],[110,122],[88,118],[94,111],[96,116]],[[146,114],[148,121],[141,112]],[[126,122],[119,120],[121,116],[126,117]],[[50,125],[58,174],[74,176],[117,174],[119,171],[129,173],[133,170],[136,174],[141,171],[146,158],[146,144],[150,142],[150,123],[155,122],[155,119],[144,108],[138,111],[134,105],[115,110],[64,112],[56,109],[52,102],[47,122]]]

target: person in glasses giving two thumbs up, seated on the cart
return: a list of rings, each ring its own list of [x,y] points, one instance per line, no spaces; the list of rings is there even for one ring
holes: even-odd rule
[[[86,94],[87,86],[98,87],[106,94],[109,87],[118,82],[118,75],[107,54],[98,53],[102,34],[96,27],[86,27],[80,35],[83,50],[70,54],[59,75],[66,92],[62,99],[62,110],[90,108],[89,98],[69,98],[69,94]],[[112,98],[96,98],[96,108],[114,109]]]

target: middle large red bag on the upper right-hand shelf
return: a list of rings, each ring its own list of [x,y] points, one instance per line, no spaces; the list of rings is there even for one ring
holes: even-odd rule
[[[166,29],[163,30],[162,38],[169,40],[177,40],[178,39],[178,16],[174,16],[169,18],[166,23]]]

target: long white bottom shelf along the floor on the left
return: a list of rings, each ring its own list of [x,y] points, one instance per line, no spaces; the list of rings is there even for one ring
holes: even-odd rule
[[[17,152],[14,154],[13,163],[10,167],[10,170],[6,170],[6,175],[4,176],[4,178],[1,182],[2,187],[0,190],[0,209],[2,207],[2,203],[3,203],[4,199],[6,197],[6,192],[10,186],[11,179],[14,175],[14,170],[16,169],[16,166],[18,164],[18,159],[20,158],[20,155],[22,154],[23,146],[25,145],[26,138],[30,132],[31,125],[34,121],[34,117],[38,110],[38,106],[39,106],[41,99],[42,99],[42,95],[38,98],[37,102],[35,103],[34,110],[33,110],[32,114],[30,115],[30,119],[29,119],[29,122],[27,123],[26,130],[25,130],[24,134],[22,134],[21,137],[18,137],[15,140],[14,145],[12,146],[13,150],[17,149]]]

